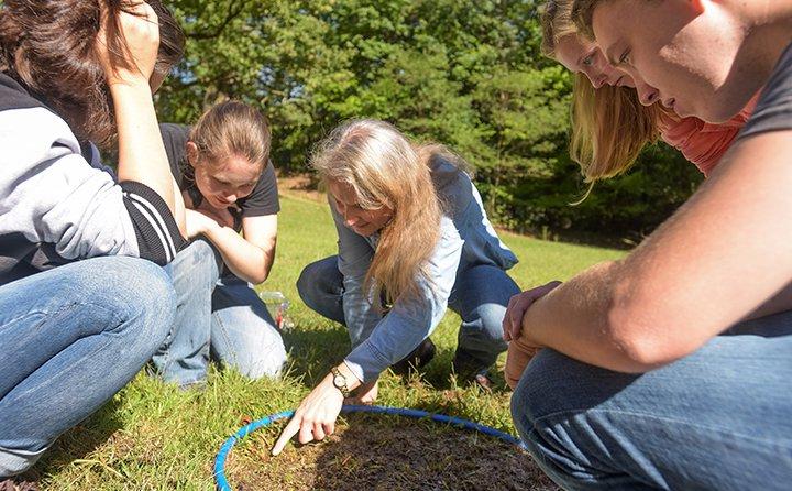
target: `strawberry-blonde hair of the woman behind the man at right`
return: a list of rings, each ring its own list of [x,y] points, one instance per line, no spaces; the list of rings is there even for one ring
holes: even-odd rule
[[[561,39],[580,35],[573,4],[575,0],[548,0],[544,7],[542,53],[548,57],[556,57]],[[605,85],[597,89],[585,75],[576,74],[570,156],[580,164],[585,181],[592,185],[614,177],[632,166],[647,143],[657,141],[663,114],[671,116],[657,105],[642,106],[634,88]]]

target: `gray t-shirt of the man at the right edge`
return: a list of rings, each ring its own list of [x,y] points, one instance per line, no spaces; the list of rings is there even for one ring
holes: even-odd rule
[[[787,46],[738,140],[792,129],[792,44]]]

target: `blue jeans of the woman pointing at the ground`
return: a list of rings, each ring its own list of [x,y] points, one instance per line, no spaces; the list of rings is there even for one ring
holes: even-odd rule
[[[337,255],[308,264],[297,280],[297,290],[308,307],[345,325],[343,275]],[[519,286],[499,268],[460,268],[449,297],[449,307],[462,317],[454,357],[458,372],[484,371],[506,350],[503,318],[509,298],[519,292]]]

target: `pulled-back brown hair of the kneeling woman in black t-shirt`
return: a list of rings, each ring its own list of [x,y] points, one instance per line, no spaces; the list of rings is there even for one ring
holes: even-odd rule
[[[227,100],[209,108],[190,130],[199,159],[218,163],[231,155],[263,170],[270,159],[271,134],[266,118],[255,108]]]

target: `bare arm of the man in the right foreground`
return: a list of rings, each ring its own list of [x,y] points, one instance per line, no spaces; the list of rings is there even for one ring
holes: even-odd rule
[[[647,371],[695,351],[779,295],[792,277],[791,139],[792,131],[776,131],[735,145],[627,259],[535,302],[509,351],[546,346],[598,367]]]

